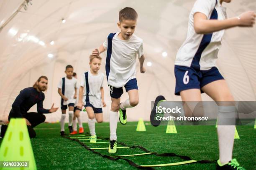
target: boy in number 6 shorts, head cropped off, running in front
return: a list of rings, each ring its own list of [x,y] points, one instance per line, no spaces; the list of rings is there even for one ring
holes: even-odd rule
[[[231,122],[232,125],[228,125],[230,122],[223,122],[227,116],[235,117],[237,110],[233,104],[234,98],[223,76],[215,67],[215,62],[225,29],[236,26],[252,27],[256,15],[248,11],[238,17],[227,18],[223,2],[229,3],[231,0],[195,2],[189,14],[187,39],[179,48],[175,61],[175,95],[180,95],[183,102],[200,102],[201,93],[205,92],[217,102],[220,154],[217,170],[242,170],[236,159],[232,159],[235,121]],[[155,105],[160,104],[161,100],[165,100],[164,96],[156,97]],[[186,108],[184,107],[186,115],[189,115]],[[151,112],[152,121],[154,115],[155,109]]]

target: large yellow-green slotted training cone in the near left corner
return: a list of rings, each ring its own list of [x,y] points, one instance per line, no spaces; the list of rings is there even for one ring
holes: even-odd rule
[[[0,161],[28,161],[28,167],[22,168],[11,168],[10,166],[9,168],[5,168],[3,167],[3,163],[1,163],[0,170],[36,170],[36,161],[25,119],[12,118],[10,120],[0,147]],[[16,165],[20,165],[20,163],[16,163]]]

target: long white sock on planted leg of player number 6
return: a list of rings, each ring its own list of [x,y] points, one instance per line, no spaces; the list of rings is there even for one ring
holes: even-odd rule
[[[220,163],[228,163],[232,160],[232,151],[235,137],[236,107],[220,106],[218,108],[218,140],[220,151]]]

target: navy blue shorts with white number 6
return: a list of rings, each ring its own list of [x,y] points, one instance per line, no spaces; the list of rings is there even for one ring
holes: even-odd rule
[[[174,74],[175,95],[180,95],[179,92],[182,90],[201,89],[210,82],[224,79],[217,67],[212,67],[210,70],[197,70],[192,67],[175,65]],[[202,90],[201,93],[203,93]]]

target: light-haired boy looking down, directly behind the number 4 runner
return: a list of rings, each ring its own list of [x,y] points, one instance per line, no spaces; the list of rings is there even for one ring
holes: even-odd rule
[[[81,85],[79,88],[78,108],[82,105],[88,114],[88,126],[91,134],[90,142],[97,142],[95,132],[95,120],[98,123],[103,121],[102,106],[105,107],[103,80],[104,75],[100,70],[102,58],[100,56],[90,55],[90,70],[82,75]],[[84,97],[84,98],[83,98]]]

